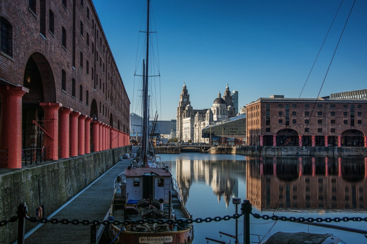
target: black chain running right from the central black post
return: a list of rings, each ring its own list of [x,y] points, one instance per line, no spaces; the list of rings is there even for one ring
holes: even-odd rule
[[[336,217],[336,218],[304,218],[304,217],[299,217],[299,218],[296,218],[296,217],[285,217],[285,216],[277,216],[277,215],[272,215],[272,216],[269,216],[269,215],[260,215],[260,214],[254,214],[251,212],[251,215],[254,216],[254,218],[262,218],[264,220],[268,220],[268,219],[272,219],[272,220],[280,220],[280,221],[291,221],[291,222],[309,222],[309,223],[312,223],[312,222],[327,222],[327,223],[330,223],[330,222],[348,222],[348,221],[357,221],[357,222],[361,222],[361,221],[365,221],[367,222],[367,217],[365,218],[361,218],[361,217],[342,217],[342,218],[339,218],[339,217]]]

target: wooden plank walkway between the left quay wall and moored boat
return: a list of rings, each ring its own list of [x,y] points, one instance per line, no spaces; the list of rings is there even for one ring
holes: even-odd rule
[[[89,185],[84,192],[76,195],[74,199],[64,204],[61,209],[47,218],[58,219],[88,219],[103,220],[109,211],[113,196],[113,183],[118,174],[124,172],[132,163],[132,159],[123,159],[97,181]],[[38,228],[37,228],[38,227]],[[103,225],[97,226],[97,237],[103,229]],[[63,225],[63,224],[38,224],[26,233],[26,244],[31,243],[91,243],[90,225]],[[98,239],[97,239],[98,243]]]

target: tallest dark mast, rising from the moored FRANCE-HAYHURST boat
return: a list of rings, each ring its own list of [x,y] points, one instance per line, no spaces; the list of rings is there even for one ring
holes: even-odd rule
[[[147,11],[146,11],[146,66],[145,66],[145,87],[144,87],[144,122],[145,122],[145,134],[143,135],[143,162],[147,161],[148,155],[148,62],[149,62],[149,0],[147,0]]]

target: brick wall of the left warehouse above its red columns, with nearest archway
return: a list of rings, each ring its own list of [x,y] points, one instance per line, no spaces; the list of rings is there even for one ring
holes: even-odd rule
[[[0,86],[29,89],[22,147],[40,145],[32,120],[42,126],[42,102],[129,132],[130,100],[91,0],[4,0],[0,16]]]

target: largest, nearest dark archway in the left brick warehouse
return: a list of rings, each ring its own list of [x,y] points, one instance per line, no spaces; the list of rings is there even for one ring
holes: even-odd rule
[[[50,63],[41,53],[33,53],[25,65],[23,86],[29,89],[22,98],[22,149],[41,148],[44,110],[40,102],[55,102],[56,88]],[[47,89],[43,89],[47,87]],[[39,126],[34,127],[33,120]]]

